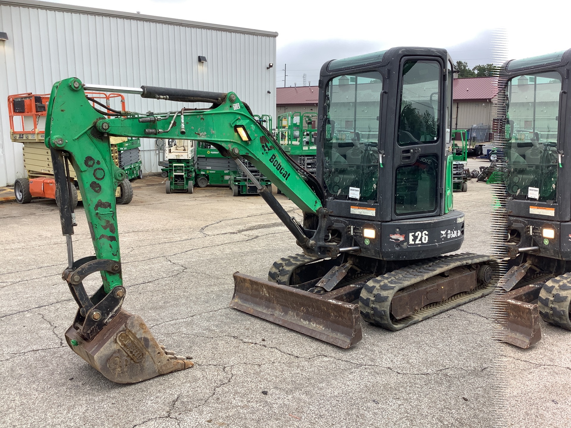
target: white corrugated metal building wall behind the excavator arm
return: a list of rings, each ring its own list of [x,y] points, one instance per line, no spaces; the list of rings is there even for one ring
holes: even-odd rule
[[[278,34],[271,31],[33,0],[0,0],[0,31],[8,35],[0,41],[0,186],[25,176],[22,144],[10,140],[7,96],[49,94],[63,78],[235,91],[254,113],[275,117],[275,68],[267,66],[276,62]],[[170,102],[138,95],[126,101],[131,111],[171,110]],[[142,141],[141,158],[144,172],[160,171],[154,139]]]

